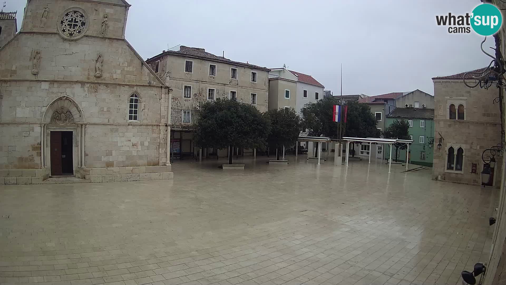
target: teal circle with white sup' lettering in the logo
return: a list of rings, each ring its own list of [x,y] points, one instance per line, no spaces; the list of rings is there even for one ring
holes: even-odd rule
[[[471,26],[481,35],[492,35],[502,25],[501,11],[492,4],[478,5],[472,14]]]

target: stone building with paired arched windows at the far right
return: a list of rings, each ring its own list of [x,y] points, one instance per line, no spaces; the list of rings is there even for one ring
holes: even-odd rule
[[[501,144],[499,104],[494,103],[499,90],[495,86],[488,90],[469,88],[462,81],[464,76],[460,73],[432,79],[436,105],[434,178],[480,185],[483,152]],[[502,171],[501,157],[496,159],[493,186],[499,186]]]

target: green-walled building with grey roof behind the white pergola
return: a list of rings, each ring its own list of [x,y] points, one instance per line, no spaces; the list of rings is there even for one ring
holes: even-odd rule
[[[434,109],[396,108],[387,115],[386,128],[395,120],[409,123],[409,135],[413,143],[409,146],[409,163],[432,167],[434,156]],[[385,148],[385,159],[390,157],[390,148]],[[392,146],[392,161],[395,161],[395,146]],[[406,161],[406,149],[399,148],[397,161]]]

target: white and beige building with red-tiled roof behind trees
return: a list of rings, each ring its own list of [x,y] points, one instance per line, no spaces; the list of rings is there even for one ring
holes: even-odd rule
[[[269,109],[293,108],[301,112],[305,104],[323,98],[324,88],[310,75],[285,67],[272,68],[269,73]]]

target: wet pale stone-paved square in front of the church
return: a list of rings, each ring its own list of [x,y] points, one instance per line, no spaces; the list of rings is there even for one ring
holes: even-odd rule
[[[376,161],[266,160],[177,161],[174,181],[2,185],[0,283],[459,284],[488,258],[496,189]]]

